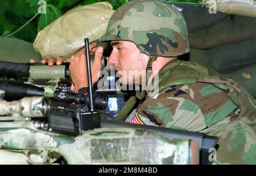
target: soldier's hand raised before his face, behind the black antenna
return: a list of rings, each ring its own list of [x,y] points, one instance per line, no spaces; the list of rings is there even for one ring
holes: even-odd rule
[[[97,43],[90,43],[89,45],[90,55],[95,52],[94,61],[90,62],[92,83],[97,82],[99,79],[98,72],[101,70],[101,58],[103,54],[103,47],[96,47],[96,45]],[[75,86],[75,92],[82,87],[88,87],[85,57],[85,48],[81,49],[78,53],[76,53],[76,55],[71,56],[69,72]]]

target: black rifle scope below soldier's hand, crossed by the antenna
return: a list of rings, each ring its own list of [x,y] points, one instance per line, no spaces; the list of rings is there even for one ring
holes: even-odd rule
[[[53,100],[57,102],[76,102],[84,103],[90,107],[90,100],[88,95],[74,94],[65,91],[55,91],[53,94]],[[98,110],[105,110],[106,104],[108,104],[108,96],[106,94],[93,94],[93,100],[95,107]]]

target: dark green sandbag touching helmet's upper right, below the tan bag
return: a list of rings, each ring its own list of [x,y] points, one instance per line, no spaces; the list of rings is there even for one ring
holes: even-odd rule
[[[209,14],[207,7],[201,7],[200,3],[188,3],[188,2],[171,2],[176,7],[181,7],[181,14],[187,23],[188,32],[198,31],[204,28],[208,28],[221,22],[228,15],[217,13]]]

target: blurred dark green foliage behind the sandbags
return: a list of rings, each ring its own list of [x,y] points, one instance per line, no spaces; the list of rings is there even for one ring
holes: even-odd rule
[[[1,0],[0,36],[14,37],[32,43],[36,34],[68,10],[105,0]],[[108,0],[117,9],[129,0]],[[168,0],[199,2],[199,0]],[[46,14],[38,9],[46,2]]]

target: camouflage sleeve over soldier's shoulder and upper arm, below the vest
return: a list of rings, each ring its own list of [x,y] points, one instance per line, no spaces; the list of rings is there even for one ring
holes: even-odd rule
[[[140,114],[157,121],[163,127],[182,127],[191,131],[221,121],[237,106],[223,90],[210,83],[170,86],[155,97],[145,100]]]

